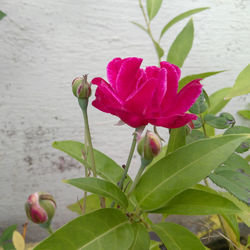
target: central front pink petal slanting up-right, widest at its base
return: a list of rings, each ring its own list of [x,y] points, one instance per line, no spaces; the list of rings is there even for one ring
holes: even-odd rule
[[[129,96],[125,102],[125,108],[132,113],[144,115],[147,108],[151,106],[151,100],[157,84],[157,79],[149,79],[133,95]]]

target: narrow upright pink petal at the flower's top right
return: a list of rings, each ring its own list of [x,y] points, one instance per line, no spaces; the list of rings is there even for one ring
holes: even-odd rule
[[[167,69],[167,92],[161,105],[162,109],[166,110],[166,108],[171,105],[176,98],[180,70],[177,70],[177,66],[168,62],[161,62],[160,65],[161,68]]]

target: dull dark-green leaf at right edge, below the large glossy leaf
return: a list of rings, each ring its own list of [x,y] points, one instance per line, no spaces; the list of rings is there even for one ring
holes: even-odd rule
[[[219,187],[226,189],[239,200],[250,205],[250,176],[236,171],[219,171],[209,175]]]

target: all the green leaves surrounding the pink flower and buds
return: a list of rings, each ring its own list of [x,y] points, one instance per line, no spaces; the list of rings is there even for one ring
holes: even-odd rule
[[[160,40],[168,29],[184,18],[207,9],[190,10],[178,15],[164,26],[157,42],[151,33],[150,23],[158,13],[162,0],[147,0],[147,15],[141,1],[139,3],[146,27],[136,25],[152,39],[159,61],[165,53]],[[193,21],[190,19],[171,45],[167,60],[181,67],[192,47],[193,36]],[[193,79],[220,72],[186,76],[181,79],[179,89]],[[235,126],[235,119],[229,113],[218,113],[232,97],[250,92],[247,84],[249,74],[250,66],[247,66],[232,88],[219,90],[210,97],[205,90],[202,92],[190,109],[199,116],[193,124],[194,129],[189,132],[186,127],[171,130],[168,145],[147,166],[131,195],[117,186],[124,169],[95,149],[97,177],[64,180],[92,193],[86,197],[84,214],[81,206],[83,200],[70,205],[69,209],[77,212],[79,217],[61,227],[35,249],[160,249],[158,242],[150,240],[150,231],[154,231],[169,250],[206,249],[196,235],[185,227],[170,222],[154,224],[148,217],[149,213],[162,214],[164,217],[171,214],[219,214],[224,228],[229,228],[233,234],[234,238],[230,238],[232,243],[240,246],[237,218],[250,225],[250,210],[245,205],[249,202],[249,165],[240,155],[249,149],[250,131],[247,127]],[[224,129],[225,132],[215,136],[215,129]],[[85,166],[91,166],[89,160],[82,157],[84,144],[57,141],[53,147]],[[207,177],[232,195],[197,184]],[[131,183],[131,178],[127,176],[124,186]],[[105,197],[108,208],[100,209],[99,197]],[[116,203],[116,208],[112,208],[112,201]]]

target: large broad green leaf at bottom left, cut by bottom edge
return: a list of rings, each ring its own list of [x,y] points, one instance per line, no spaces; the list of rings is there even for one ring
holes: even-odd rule
[[[133,235],[124,214],[117,209],[105,208],[70,221],[34,250],[128,250]]]

